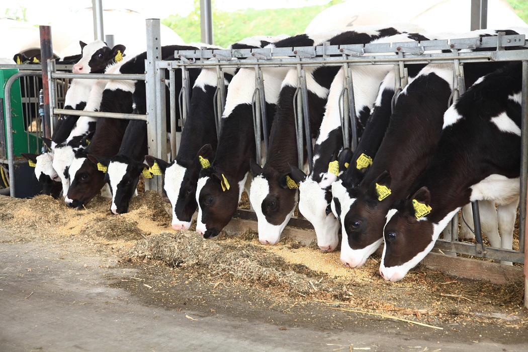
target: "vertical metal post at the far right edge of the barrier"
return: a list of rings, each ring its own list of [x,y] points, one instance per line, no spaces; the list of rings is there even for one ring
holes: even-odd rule
[[[528,308],[528,241],[526,233],[528,224],[526,223],[526,210],[528,200],[526,193],[528,189],[528,61],[523,61],[522,71],[522,97],[521,97],[521,204],[519,211],[519,251],[524,249],[524,307]]]

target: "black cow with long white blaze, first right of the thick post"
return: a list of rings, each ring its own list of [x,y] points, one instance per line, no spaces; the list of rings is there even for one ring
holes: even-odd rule
[[[284,39],[283,36],[254,36],[232,44],[230,49],[253,49]],[[235,70],[223,69],[225,88],[229,92],[229,82]],[[182,132],[178,154],[172,163],[146,156],[149,166],[154,161],[165,174],[164,189],[172,204],[172,227],[176,231],[188,230],[191,219],[198,207],[196,184],[202,168],[197,156],[200,148],[209,144],[214,156],[218,137],[214,120],[214,94],[218,88],[217,73],[214,68],[204,68],[194,83],[191,106]],[[211,156],[211,157],[212,157]],[[212,159],[210,160],[212,161]]]

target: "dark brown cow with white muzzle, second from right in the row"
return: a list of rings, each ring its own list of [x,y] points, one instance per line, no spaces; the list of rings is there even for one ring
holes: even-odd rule
[[[475,31],[460,37],[497,32]],[[467,63],[466,87],[502,65]],[[409,188],[429,164],[444,123],[452,77],[451,64],[430,64],[400,94],[373,165],[359,186],[347,189],[350,199],[341,204],[343,238],[348,239],[342,243],[341,260],[345,265],[360,267],[378,248],[390,205],[408,195]]]

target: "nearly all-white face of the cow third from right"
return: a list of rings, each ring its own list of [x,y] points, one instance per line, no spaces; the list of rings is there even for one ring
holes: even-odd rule
[[[325,190],[314,180],[306,179],[300,183],[299,212],[314,225],[319,248],[323,251],[333,251],[339,243],[339,221],[332,213],[326,215],[327,205]]]

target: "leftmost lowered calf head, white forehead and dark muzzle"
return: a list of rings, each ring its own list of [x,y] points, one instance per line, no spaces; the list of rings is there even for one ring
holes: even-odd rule
[[[42,194],[59,198],[62,191],[61,178],[53,168],[53,151],[41,155],[21,153],[35,166],[35,176],[42,186]]]

